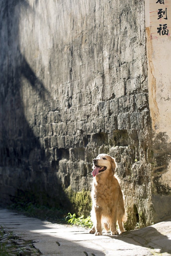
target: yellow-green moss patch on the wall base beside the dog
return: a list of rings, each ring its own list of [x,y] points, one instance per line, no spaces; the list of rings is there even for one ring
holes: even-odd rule
[[[64,189],[64,191],[73,206],[72,211],[76,213],[76,216],[80,217],[84,215],[88,217],[92,207],[90,191],[82,190],[75,192],[70,186]]]

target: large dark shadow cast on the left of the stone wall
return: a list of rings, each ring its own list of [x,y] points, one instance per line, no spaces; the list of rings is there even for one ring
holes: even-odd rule
[[[65,204],[70,208],[62,185],[51,168],[50,153],[48,149],[45,152],[39,135],[34,135],[33,125],[28,123],[25,116],[21,91],[27,89],[27,83],[33,95],[36,95],[35,101],[39,98],[47,112],[53,99],[19,48],[19,16],[15,10],[18,8],[20,13],[21,7],[33,11],[27,1],[4,1],[1,8],[3,25],[0,32],[6,33],[0,63],[0,117],[3,120],[0,124],[1,201],[9,204],[26,197],[26,200],[40,204],[56,207]],[[26,96],[29,98],[33,95]],[[34,122],[36,125],[36,118]]]

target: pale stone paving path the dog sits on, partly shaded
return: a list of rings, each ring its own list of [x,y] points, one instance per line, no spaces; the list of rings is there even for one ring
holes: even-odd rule
[[[33,240],[44,256],[171,255],[171,219],[118,236],[94,236],[85,228],[53,224],[0,209],[0,225],[23,240]]]

